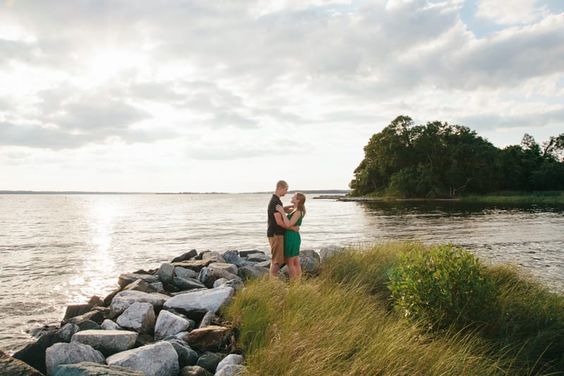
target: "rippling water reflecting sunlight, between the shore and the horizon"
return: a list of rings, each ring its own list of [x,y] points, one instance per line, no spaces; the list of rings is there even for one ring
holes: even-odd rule
[[[302,249],[419,240],[520,265],[564,291],[564,205],[312,200]],[[0,195],[0,348],[59,322],[68,304],[106,296],[117,277],[192,248],[269,252],[270,194]],[[289,203],[290,195],[283,198]]]

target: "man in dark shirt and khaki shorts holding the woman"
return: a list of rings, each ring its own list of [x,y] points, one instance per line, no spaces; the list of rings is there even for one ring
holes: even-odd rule
[[[284,263],[284,234],[286,233],[286,226],[282,214],[276,211],[276,205],[282,205],[281,197],[288,192],[288,183],[286,181],[278,181],[276,183],[276,190],[272,194],[268,208],[268,229],[266,229],[266,236],[269,238],[270,244],[270,277],[278,277],[280,265]]]

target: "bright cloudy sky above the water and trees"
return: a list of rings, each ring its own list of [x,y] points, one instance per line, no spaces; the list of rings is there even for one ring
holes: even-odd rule
[[[397,116],[564,132],[562,0],[0,0],[0,190],[347,189]]]

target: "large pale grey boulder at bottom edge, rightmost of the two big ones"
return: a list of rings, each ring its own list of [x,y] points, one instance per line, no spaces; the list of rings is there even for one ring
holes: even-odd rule
[[[180,371],[178,354],[166,341],[116,353],[106,363],[145,371],[148,376],[176,376]]]

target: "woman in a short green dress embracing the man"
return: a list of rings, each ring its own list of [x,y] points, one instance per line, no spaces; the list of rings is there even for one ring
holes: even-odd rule
[[[286,216],[285,208],[281,205],[276,206],[276,210],[282,214],[284,224],[286,225],[286,234],[284,235],[284,262],[288,266],[288,274],[290,278],[298,278],[302,275],[302,267],[300,266],[300,245],[302,238],[300,233],[290,230],[293,226],[301,226],[302,219],[305,216],[305,195],[296,192],[292,200],[292,206],[286,207],[288,216]]]

